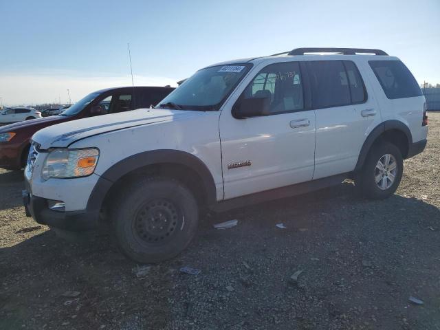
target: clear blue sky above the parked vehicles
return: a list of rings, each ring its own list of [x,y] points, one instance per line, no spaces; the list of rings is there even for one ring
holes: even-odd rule
[[[0,0],[3,103],[66,102],[102,87],[167,85],[232,58],[373,47],[440,83],[440,0]]]

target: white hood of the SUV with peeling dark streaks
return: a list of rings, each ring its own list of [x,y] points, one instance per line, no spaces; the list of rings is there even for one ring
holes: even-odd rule
[[[41,144],[42,149],[66,147],[93,135],[202,114],[201,111],[190,110],[137,109],[56,124],[36,132],[32,140]]]

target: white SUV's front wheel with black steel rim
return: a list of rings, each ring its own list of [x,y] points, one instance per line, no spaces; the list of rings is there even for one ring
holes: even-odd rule
[[[125,256],[157,263],[177,256],[197,232],[195,197],[174,179],[151,177],[129,185],[113,208],[113,233]]]

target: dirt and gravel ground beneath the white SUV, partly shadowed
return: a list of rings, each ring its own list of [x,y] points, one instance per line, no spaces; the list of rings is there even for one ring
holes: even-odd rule
[[[207,217],[140,277],[109,235],[71,243],[25,217],[23,173],[0,170],[0,329],[440,329],[440,113],[429,119],[393,197],[344,183]]]

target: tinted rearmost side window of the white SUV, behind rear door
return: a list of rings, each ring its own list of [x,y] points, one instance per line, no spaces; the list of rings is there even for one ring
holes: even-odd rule
[[[401,61],[369,61],[369,65],[387,98],[421,96],[421,89],[410,70]]]

